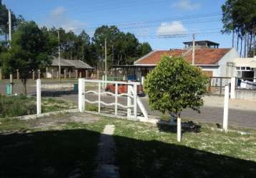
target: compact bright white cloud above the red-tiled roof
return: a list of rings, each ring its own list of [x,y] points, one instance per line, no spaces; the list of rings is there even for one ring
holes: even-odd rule
[[[181,21],[161,23],[161,26],[157,28],[157,36],[182,36],[185,34],[187,34],[187,29]]]

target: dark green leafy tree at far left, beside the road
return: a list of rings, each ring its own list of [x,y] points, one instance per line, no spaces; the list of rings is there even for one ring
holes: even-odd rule
[[[26,94],[26,81],[32,70],[46,68],[51,64],[49,38],[34,21],[21,23],[11,41],[11,48],[1,55],[4,73],[19,69]]]

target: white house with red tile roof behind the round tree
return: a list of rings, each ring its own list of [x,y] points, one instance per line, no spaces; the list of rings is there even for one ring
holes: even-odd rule
[[[195,66],[202,68],[210,77],[232,77],[235,75],[234,60],[240,55],[235,48],[219,48],[219,45],[212,41],[195,41]],[[152,51],[139,58],[134,62],[137,80],[141,81],[164,55],[183,56],[187,62],[192,63],[192,41],[184,42],[183,49]]]

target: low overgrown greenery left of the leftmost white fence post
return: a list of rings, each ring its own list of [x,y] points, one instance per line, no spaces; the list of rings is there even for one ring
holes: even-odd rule
[[[35,98],[28,98],[24,95],[0,95],[0,117],[15,117],[20,115],[31,115],[35,113]]]

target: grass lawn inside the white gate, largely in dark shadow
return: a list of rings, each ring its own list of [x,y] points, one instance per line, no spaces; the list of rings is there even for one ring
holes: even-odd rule
[[[177,142],[172,127],[84,114],[0,122],[0,177],[92,177],[104,125],[116,128],[120,177],[256,177],[256,130],[225,134],[197,123]]]

